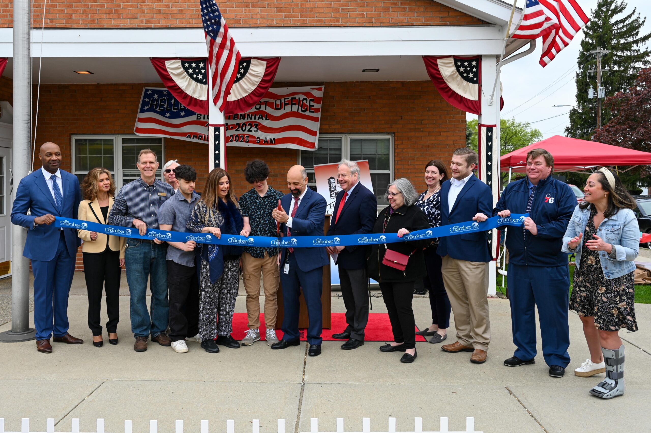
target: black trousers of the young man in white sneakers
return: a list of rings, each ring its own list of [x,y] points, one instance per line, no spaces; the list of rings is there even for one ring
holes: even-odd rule
[[[169,337],[172,341],[194,337],[199,333],[197,268],[167,260],[167,288],[169,288]]]

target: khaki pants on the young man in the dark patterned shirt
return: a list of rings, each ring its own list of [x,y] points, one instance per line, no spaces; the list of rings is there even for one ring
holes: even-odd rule
[[[266,252],[264,258],[256,258],[249,253],[242,254],[242,277],[244,290],[246,290],[249,329],[260,328],[260,272],[262,272],[262,285],[264,286],[264,323],[267,329],[276,328],[277,294],[280,282],[276,258],[276,256],[269,257]]]

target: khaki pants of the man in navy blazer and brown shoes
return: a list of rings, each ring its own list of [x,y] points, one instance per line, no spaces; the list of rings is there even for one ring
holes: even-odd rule
[[[456,338],[464,346],[488,350],[488,263],[445,256],[441,273],[454,313]]]

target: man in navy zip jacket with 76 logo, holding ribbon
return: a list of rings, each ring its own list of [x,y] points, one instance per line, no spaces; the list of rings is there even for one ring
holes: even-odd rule
[[[572,189],[551,177],[553,169],[554,158],[547,150],[530,150],[527,178],[506,186],[493,216],[529,214],[523,228],[509,227],[506,236],[508,298],[513,342],[518,348],[504,365],[518,367],[535,362],[537,305],[549,376],[560,378],[570,363],[570,273],[561,245],[577,203]],[[483,216],[477,219],[482,220]]]

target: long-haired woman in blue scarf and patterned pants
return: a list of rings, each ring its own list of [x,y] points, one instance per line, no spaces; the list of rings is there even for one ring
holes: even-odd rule
[[[223,169],[208,174],[206,189],[197,203],[187,230],[211,233],[217,238],[222,234],[240,234],[244,227],[242,212],[235,194],[230,188],[230,176]],[[201,347],[216,354],[219,347],[240,347],[230,336],[232,332],[235,299],[240,285],[240,256],[243,247],[231,245],[199,244],[197,266],[200,279],[199,335]]]

